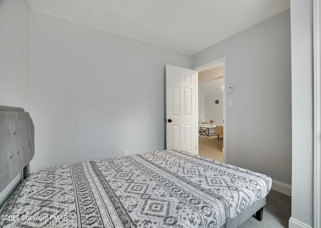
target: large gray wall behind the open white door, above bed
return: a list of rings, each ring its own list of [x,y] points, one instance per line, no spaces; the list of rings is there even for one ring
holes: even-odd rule
[[[31,12],[32,171],[165,148],[165,65],[191,56]]]

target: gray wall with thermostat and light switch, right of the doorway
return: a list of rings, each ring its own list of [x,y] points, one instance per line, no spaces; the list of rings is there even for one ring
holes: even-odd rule
[[[192,56],[226,57],[227,163],[291,184],[290,10]],[[304,120],[301,120],[304,123]]]

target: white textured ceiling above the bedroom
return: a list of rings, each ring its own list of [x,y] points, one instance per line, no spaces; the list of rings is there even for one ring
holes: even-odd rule
[[[27,0],[32,11],[188,55],[290,8],[290,0]]]

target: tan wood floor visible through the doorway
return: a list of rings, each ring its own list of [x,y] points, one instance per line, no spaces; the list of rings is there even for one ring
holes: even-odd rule
[[[199,137],[199,155],[224,162],[223,140],[224,138]]]

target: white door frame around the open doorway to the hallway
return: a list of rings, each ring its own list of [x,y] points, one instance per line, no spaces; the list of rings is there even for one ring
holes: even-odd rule
[[[199,92],[198,92],[198,79],[199,79],[199,76],[198,76],[198,71],[204,71],[204,70],[207,70],[207,69],[211,69],[211,68],[214,68],[216,65],[219,65],[219,64],[223,64],[223,85],[224,85],[224,91],[223,91],[223,135],[224,135],[224,140],[223,140],[223,148],[224,148],[224,162],[226,163],[226,154],[227,154],[227,128],[226,128],[226,122],[227,122],[227,119],[226,119],[226,59],[225,57],[223,58],[220,58],[220,59],[217,59],[217,60],[214,60],[214,61],[211,61],[209,63],[206,63],[206,64],[203,64],[201,66],[198,66],[198,67],[195,67],[193,68],[193,70],[196,71],[196,122],[198,122],[198,118],[199,118],[199,114],[198,114],[198,101],[199,101]],[[198,131],[197,131],[197,135],[196,135],[196,138],[198,139]],[[196,140],[196,154],[199,154],[199,140]]]

